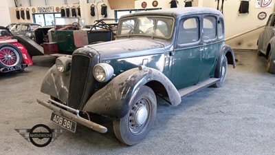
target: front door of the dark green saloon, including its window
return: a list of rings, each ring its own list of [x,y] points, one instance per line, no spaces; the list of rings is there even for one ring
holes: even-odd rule
[[[170,80],[181,89],[195,85],[201,71],[200,15],[184,17],[177,26]]]

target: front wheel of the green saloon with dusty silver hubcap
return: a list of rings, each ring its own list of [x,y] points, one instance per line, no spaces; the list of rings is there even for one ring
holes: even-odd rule
[[[115,136],[126,145],[140,143],[150,132],[157,112],[157,100],[150,87],[143,86],[131,99],[131,109],[113,121]]]

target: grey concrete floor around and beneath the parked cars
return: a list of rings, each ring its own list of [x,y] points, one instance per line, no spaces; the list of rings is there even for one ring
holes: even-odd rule
[[[111,120],[100,134],[78,125],[46,147],[35,147],[14,129],[30,129],[50,121],[51,111],[36,103],[47,100],[40,90],[51,56],[34,56],[23,72],[0,74],[0,154],[275,154],[275,75],[256,52],[236,51],[236,69],[229,65],[221,88],[206,88],[171,107],[159,99],[153,130],[129,147],[115,138]]]

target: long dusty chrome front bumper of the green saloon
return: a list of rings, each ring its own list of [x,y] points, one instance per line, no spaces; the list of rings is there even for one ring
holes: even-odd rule
[[[99,124],[97,124],[97,123],[94,123],[94,122],[92,122],[92,121],[89,121],[89,120],[87,120],[86,118],[80,117],[80,116],[78,115],[78,112],[79,112],[79,111],[78,111],[78,110],[74,110],[72,107],[67,107],[66,105],[62,105],[61,103],[58,103],[58,102],[56,102],[56,101],[52,101],[51,99],[49,99],[48,102],[46,102],[46,101],[41,101],[41,100],[39,100],[39,99],[36,99],[36,101],[37,101],[39,104],[41,104],[41,105],[47,107],[48,109],[53,110],[54,112],[60,114],[61,116],[64,116],[64,117],[66,117],[66,118],[69,118],[69,119],[72,120],[72,121],[75,121],[75,122],[77,122],[77,123],[80,123],[80,124],[82,124],[82,125],[85,125],[86,127],[89,127],[90,129],[95,130],[96,132],[100,132],[100,133],[105,133],[105,132],[107,132],[107,127],[104,127],[104,126],[102,126],[102,125],[99,125]],[[67,110],[70,110],[70,111],[72,111],[72,112],[76,112],[76,114],[73,114],[72,112],[68,112],[67,110],[63,110],[63,109],[61,109],[60,107],[57,107],[57,106],[54,105],[54,104],[60,105],[61,107],[65,107],[65,108],[67,108]]]

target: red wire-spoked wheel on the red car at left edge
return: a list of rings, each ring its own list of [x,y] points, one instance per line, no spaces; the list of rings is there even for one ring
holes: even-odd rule
[[[12,67],[21,64],[22,54],[15,45],[0,45],[0,68]]]

